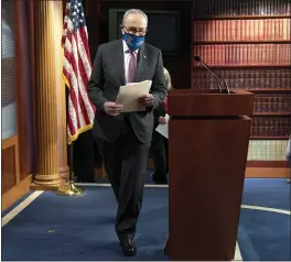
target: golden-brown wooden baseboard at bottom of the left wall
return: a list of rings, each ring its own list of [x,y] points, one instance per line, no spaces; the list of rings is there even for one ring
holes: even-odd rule
[[[30,190],[32,175],[29,175],[18,185],[10,188],[2,195],[2,211],[12,206],[19,198],[23,197]]]

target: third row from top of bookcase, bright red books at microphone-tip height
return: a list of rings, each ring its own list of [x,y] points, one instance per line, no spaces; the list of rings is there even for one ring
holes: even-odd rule
[[[291,65],[290,48],[291,44],[195,45],[194,54],[208,65]]]

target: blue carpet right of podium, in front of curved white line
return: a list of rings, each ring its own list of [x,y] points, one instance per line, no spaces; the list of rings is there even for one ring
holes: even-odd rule
[[[244,260],[290,261],[290,216],[242,209],[238,244]]]

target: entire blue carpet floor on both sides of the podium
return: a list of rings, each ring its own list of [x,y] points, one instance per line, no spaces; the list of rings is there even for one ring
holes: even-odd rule
[[[290,210],[288,198],[285,179],[246,179],[244,205]],[[116,207],[110,187],[74,198],[45,192],[2,228],[2,260],[168,260],[168,188],[144,189],[134,258],[118,247]],[[241,209],[238,242],[244,260],[291,260],[290,216]]]

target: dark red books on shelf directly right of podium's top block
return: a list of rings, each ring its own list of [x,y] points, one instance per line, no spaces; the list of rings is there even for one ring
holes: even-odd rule
[[[291,94],[257,94],[255,112],[285,112],[291,117]]]

